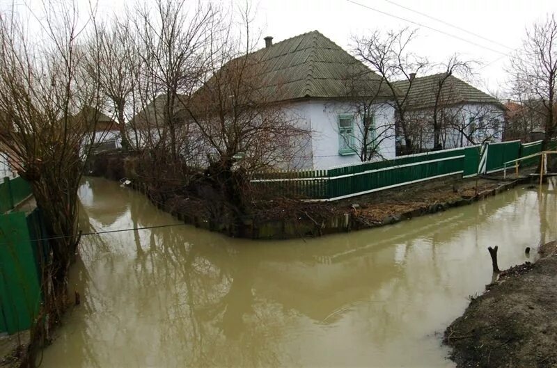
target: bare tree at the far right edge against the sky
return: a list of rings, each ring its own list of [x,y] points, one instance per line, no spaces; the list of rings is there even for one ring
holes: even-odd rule
[[[510,68],[512,93],[521,102],[537,102],[544,117],[542,150],[554,138],[557,122],[557,19],[547,15],[544,22],[526,30],[519,51],[512,55]]]

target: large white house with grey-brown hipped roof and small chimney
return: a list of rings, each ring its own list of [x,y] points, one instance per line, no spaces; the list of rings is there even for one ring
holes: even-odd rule
[[[299,142],[292,159],[276,164],[276,168],[325,169],[356,163],[361,161],[362,150],[367,150],[372,159],[395,157],[395,112],[389,104],[390,90],[377,74],[329,38],[318,31],[276,43],[267,37],[265,48],[247,58],[253,70],[247,73],[251,80],[246,84],[251,83],[252,95],[260,97],[250,99],[249,104],[280,110],[286,120],[296,121],[297,127],[310,132],[310,138]],[[239,60],[230,61],[221,70],[229,72]],[[194,93],[193,106],[203,108],[212,102],[209,99],[217,98],[217,93],[210,92],[211,83],[216,82],[210,79]],[[354,86],[358,87],[356,92]],[[152,122],[149,127],[143,122],[157,116],[152,110],[160,109],[159,99],[164,95],[134,118],[143,132],[153,129]],[[361,113],[361,105],[366,105],[366,113]],[[363,119],[366,124],[362,124]]]

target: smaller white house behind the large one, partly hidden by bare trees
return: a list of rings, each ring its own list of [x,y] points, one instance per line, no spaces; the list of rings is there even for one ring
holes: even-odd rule
[[[501,141],[505,106],[498,99],[452,74],[412,78],[412,83],[398,81],[395,86],[401,93],[408,93],[405,118],[413,150],[449,149]],[[438,147],[434,147],[434,117],[440,127]],[[398,136],[398,142],[404,152],[402,135]]]

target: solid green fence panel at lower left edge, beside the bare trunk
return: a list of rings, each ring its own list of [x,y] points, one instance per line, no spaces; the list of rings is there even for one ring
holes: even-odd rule
[[[0,215],[0,310],[7,333],[31,327],[40,307],[40,282],[24,212]]]

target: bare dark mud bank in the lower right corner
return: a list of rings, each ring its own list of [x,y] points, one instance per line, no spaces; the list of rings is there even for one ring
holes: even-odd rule
[[[486,251],[487,253],[487,251]],[[487,256],[487,255],[486,255]],[[457,367],[557,366],[557,242],[501,273],[445,331]]]

